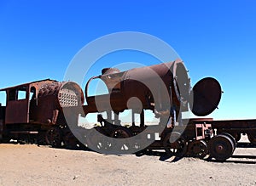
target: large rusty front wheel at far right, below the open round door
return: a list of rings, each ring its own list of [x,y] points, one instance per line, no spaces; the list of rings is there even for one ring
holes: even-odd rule
[[[235,144],[233,140],[223,134],[214,136],[209,141],[209,153],[217,161],[225,161],[233,155]]]

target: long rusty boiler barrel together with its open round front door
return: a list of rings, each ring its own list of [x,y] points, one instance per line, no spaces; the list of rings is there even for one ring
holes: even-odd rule
[[[119,113],[127,109],[135,110],[137,113],[142,109],[154,110],[155,113],[161,114],[165,113],[165,110],[170,110],[171,104],[176,108],[177,113],[188,111],[190,106],[196,116],[207,116],[217,108],[222,93],[218,81],[208,77],[196,83],[192,90],[194,94],[191,94],[187,70],[183,61],[179,59],[122,72],[116,69],[102,70],[102,72],[107,74],[94,76],[86,84],[85,115],[106,110]],[[88,95],[90,82],[96,78],[105,82],[108,94]],[[164,83],[163,86],[161,82]],[[164,91],[167,91],[167,95]],[[141,104],[137,101],[132,103],[132,98],[137,98]],[[127,105],[128,102],[130,105]]]

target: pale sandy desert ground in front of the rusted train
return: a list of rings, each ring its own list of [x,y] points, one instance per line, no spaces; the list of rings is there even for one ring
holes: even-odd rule
[[[226,162],[0,144],[0,185],[256,185],[256,149]]]

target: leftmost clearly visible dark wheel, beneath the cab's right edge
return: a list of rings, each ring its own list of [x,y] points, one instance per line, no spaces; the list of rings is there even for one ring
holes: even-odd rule
[[[51,145],[52,147],[59,148],[61,147],[61,129],[58,127],[51,127],[49,130],[45,133],[45,141],[47,144]]]

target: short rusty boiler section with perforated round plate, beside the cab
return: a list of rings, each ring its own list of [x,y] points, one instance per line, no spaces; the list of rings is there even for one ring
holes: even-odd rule
[[[84,104],[84,93],[75,82],[46,82],[38,88],[38,104],[34,109],[35,121],[65,125],[67,114],[73,120]],[[67,111],[68,110],[68,111]],[[65,113],[64,113],[65,112]],[[65,115],[65,116],[64,116]]]

